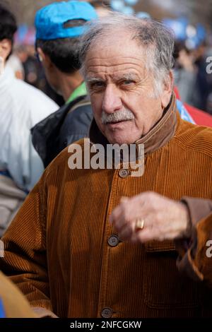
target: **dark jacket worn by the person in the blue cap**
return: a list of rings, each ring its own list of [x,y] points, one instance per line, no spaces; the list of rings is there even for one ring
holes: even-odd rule
[[[86,95],[60,107],[31,129],[33,146],[45,167],[61,150],[88,137],[93,112]]]

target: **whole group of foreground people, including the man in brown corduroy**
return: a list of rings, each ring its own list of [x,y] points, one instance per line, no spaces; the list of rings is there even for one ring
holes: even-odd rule
[[[49,4],[35,53],[57,105],[8,63],[16,30],[0,5],[0,316],[211,316],[212,129],[187,109],[188,55],[151,18]],[[134,160],[107,167],[108,146]]]

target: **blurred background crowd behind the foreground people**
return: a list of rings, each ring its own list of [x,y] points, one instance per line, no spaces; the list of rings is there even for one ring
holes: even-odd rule
[[[18,20],[18,32],[11,66],[16,76],[64,102],[47,84],[39,61],[35,58],[34,18],[37,9],[51,0],[0,0]],[[212,0],[90,0],[106,12],[120,11],[138,17],[163,21],[175,34],[175,85],[182,102],[212,114],[212,73],[207,73],[206,59],[212,57]],[[18,61],[19,67],[18,67]]]

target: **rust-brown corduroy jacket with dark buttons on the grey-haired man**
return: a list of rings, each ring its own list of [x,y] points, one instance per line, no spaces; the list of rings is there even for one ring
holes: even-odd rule
[[[32,306],[61,317],[212,314],[206,245],[212,239],[212,205],[206,201],[212,199],[212,130],[180,119],[173,98],[139,143],[146,152],[141,177],[131,177],[130,169],[70,170],[66,148],[28,195],[3,237],[0,268]],[[142,191],[189,197],[190,242],[119,241],[108,217],[121,196]]]

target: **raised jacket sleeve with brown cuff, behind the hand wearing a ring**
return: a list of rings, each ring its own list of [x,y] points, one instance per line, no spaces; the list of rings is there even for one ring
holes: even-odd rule
[[[212,201],[199,198],[182,201],[189,209],[192,237],[175,241],[179,251],[177,268],[212,287]]]

